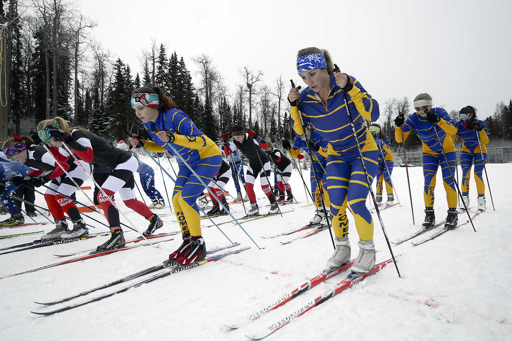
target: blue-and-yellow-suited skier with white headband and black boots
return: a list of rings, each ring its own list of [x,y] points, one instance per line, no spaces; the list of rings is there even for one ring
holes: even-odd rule
[[[444,226],[447,229],[453,229],[457,226],[457,190],[453,177],[457,165],[453,135],[457,128],[452,124],[452,119],[446,110],[432,107],[432,97],[429,94],[416,96],[414,108],[416,112],[412,113],[406,120],[402,115],[395,119],[395,139],[396,142],[400,143],[402,142],[402,132],[403,139],[406,140],[411,131],[414,130],[423,144],[425,221],[422,225],[424,228],[428,228],[435,224],[434,189],[437,169],[441,165],[446,201],[448,202],[448,215]],[[448,163],[444,158],[443,149],[448,158]],[[450,164],[450,168],[448,164]]]

